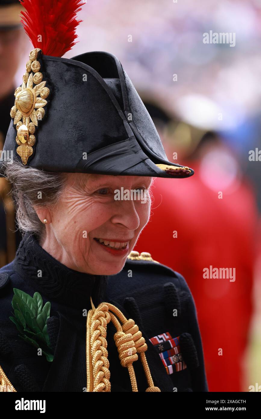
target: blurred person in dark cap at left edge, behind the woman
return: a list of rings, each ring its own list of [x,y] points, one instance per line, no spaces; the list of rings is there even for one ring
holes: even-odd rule
[[[21,8],[18,0],[0,0],[0,153],[11,120],[14,79],[20,62],[20,46],[24,39],[19,16]],[[15,205],[9,192],[10,185],[1,177],[0,267],[13,260],[21,238],[19,230],[15,232]]]

